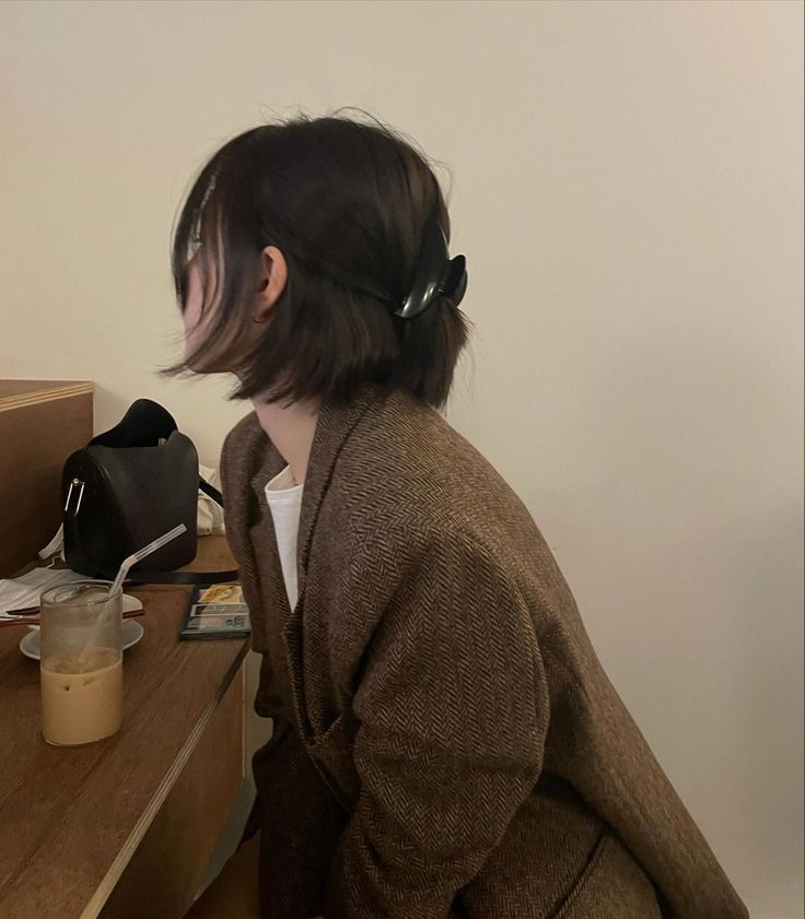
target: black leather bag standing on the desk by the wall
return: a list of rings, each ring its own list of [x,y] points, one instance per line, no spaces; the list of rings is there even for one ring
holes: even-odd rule
[[[196,557],[198,490],[223,507],[199,475],[192,440],[171,413],[138,399],[119,424],[71,453],[61,476],[65,561],[93,578],[114,579],[124,558],[179,523],[187,532],[138,562],[127,580],[205,584],[233,580],[237,569],[175,572]]]

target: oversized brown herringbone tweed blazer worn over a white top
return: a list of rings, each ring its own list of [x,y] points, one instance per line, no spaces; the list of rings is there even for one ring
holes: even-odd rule
[[[299,596],[255,413],[221,458],[275,733],[254,761],[272,919],[745,919],[596,658],[525,506],[435,411],[323,407]],[[250,832],[250,830],[249,830]]]

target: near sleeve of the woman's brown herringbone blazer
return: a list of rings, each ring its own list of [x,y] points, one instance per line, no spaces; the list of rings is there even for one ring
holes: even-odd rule
[[[548,692],[529,610],[467,538],[432,545],[366,648],[361,785],[325,919],[446,919],[539,776]]]

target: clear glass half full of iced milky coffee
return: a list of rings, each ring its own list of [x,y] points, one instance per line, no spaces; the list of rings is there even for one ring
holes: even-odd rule
[[[122,589],[85,580],[39,598],[42,735],[56,746],[108,738],[122,720]]]

